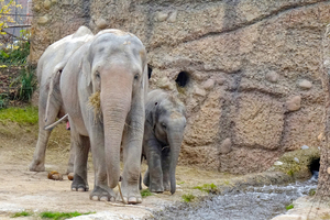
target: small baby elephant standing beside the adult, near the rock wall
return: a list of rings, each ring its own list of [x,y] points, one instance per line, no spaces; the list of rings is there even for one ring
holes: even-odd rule
[[[160,89],[148,92],[142,152],[148,168],[143,184],[153,193],[176,190],[175,168],[186,127],[185,114],[185,106],[172,95]]]

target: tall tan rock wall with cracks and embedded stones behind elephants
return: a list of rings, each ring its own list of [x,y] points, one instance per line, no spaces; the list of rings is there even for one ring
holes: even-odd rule
[[[142,40],[150,87],[187,107],[180,164],[260,172],[286,151],[319,144],[330,1],[35,0],[34,14],[33,62],[81,24]]]

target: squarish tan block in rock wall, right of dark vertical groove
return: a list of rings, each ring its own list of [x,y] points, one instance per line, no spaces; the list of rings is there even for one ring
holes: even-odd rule
[[[238,98],[235,145],[274,150],[279,147],[284,129],[283,103],[262,94]]]

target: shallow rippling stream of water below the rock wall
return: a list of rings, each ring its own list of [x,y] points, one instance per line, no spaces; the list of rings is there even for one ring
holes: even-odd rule
[[[286,212],[286,206],[317,188],[317,175],[304,183],[248,187],[198,204],[180,204],[155,212],[155,219],[267,220]]]

